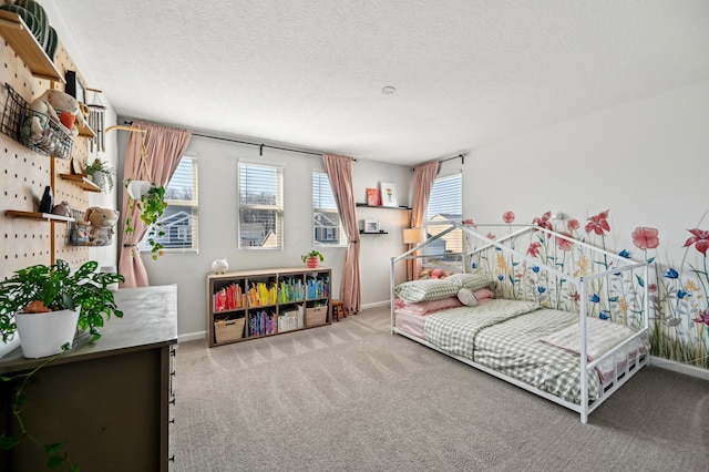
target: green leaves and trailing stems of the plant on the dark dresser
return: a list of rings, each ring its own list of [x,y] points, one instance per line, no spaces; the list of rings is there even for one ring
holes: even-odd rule
[[[16,271],[14,276],[0,283],[0,332],[6,340],[17,330],[13,315],[21,312],[51,312],[62,309],[80,310],[76,321],[76,331],[89,331],[91,342],[101,338],[99,328],[104,326],[105,319],[115,316],[123,317],[123,311],[117,309],[113,293],[109,285],[124,281],[120,274],[96,271],[99,263],[91,260],[82,265],[74,273],[64,260],[56,260],[51,266],[35,265]],[[28,308],[31,307],[31,308]],[[49,314],[51,316],[51,314]],[[24,315],[39,316],[39,315]],[[37,439],[24,425],[22,412],[28,407],[29,400],[24,389],[32,381],[34,374],[43,367],[71,349],[69,343],[62,347],[62,352],[47,358],[29,372],[14,377],[0,377],[0,380],[16,381],[12,399],[9,402],[11,414],[14,418],[19,434],[0,433],[0,450],[9,451],[18,447],[22,440],[29,440],[44,451],[48,456],[47,465],[59,469],[66,463],[68,453],[63,442],[43,443]],[[71,465],[71,471],[79,471],[79,465]]]

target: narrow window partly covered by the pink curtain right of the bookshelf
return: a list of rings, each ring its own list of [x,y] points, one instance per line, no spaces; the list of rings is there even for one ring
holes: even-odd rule
[[[318,171],[312,173],[312,227],[315,245],[345,246],[347,243],[330,178]]]

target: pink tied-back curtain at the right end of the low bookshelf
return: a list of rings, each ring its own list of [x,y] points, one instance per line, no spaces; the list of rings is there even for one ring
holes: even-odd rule
[[[328,171],[337,209],[342,218],[342,227],[348,237],[340,298],[350,312],[359,312],[362,305],[359,267],[359,224],[352,193],[352,158],[323,154],[322,161]]]

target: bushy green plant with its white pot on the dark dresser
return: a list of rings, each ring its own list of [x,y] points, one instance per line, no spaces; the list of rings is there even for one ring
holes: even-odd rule
[[[99,340],[104,316],[123,317],[107,286],[124,278],[96,271],[97,267],[99,263],[90,260],[72,273],[69,264],[56,260],[51,266],[20,269],[0,281],[2,339],[17,329],[22,353],[28,358],[71,349],[81,332],[89,331],[92,342]],[[12,316],[14,322],[10,321]]]

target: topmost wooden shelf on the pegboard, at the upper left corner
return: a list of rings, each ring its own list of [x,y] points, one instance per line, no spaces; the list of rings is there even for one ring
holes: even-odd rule
[[[66,82],[19,14],[0,10],[0,34],[22,58],[32,75],[54,82]]]

